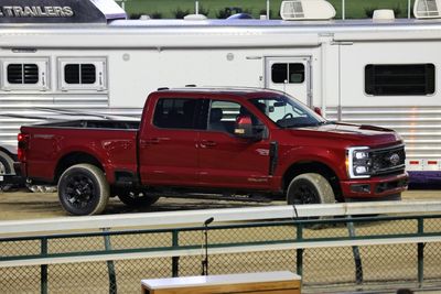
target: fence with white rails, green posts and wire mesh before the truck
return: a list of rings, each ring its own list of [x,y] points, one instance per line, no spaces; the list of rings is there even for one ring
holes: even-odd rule
[[[441,287],[440,208],[357,203],[7,221],[0,288],[137,293],[141,279],[197,275],[209,217],[211,274],[290,270],[302,275],[305,292]],[[318,215],[340,217],[304,219]]]

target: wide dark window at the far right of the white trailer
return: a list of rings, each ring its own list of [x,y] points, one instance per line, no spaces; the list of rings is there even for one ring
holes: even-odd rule
[[[369,64],[365,91],[375,96],[430,95],[434,92],[433,64]]]

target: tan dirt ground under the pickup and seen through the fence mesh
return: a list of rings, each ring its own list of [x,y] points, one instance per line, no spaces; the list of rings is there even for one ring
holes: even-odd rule
[[[405,202],[416,200],[441,200],[441,190],[409,190],[404,195]],[[233,207],[249,207],[249,206],[267,206],[267,205],[283,205],[283,202],[273,202],[270,204],[259,203],[240,203],[240,202],[225,202],[225,200],[201,200],[201,199],[176,199],[176,198],[161,198],[157,204],[146,209],[130,209],[118,199],[111,199],[108,204],[106,214],[130,214],[141,211],[170,211],[170,210],[189,210],[189,209],[213,209],[213,208],[233,208]],[[28,193],[28,192],[13,192],[13,193],[1,193],[0,194],[0,221],[2,220],[19,220],[19,219],[35,219],[35,218],[57,218],[65,217],[66,214],[63,211],[58,204],[57,195],[55,193]],[[409,224],[407,224],[409,225]],[[395,228],[402,229],[402,224],[386,224],[380,222],[376,226],[362,226],[357,229],[358,233],[367,232],[383,232]],[[306,230],[305,237],[319,236],[332,233],[333,236],[341,236],[341,233],[347,233],[344,227],[327,228],[326,230]],[[256,231],[240,231],[236,235],[236,238],[249,238],[258,233]],[[193,242],[200,240],[200,232],[192,232],[192,236],[186,236],[187,240]],[[219,231],[219,236],[212,233],[211,240],[223,240],[222,238],[229,238],[229,233],[225,235],[225,231]],[[224,235],[222,235],[224,233]],[[292,231],[288,230],[284,232],[281,230],[278,233],[289,233],[292,236]],[[271,236],[275,236],[275,229],[271,231]],[[126,238],[126,237],[125,237]],[[146,243],[142,238],[146,237],[131,237],[127,242],[130,241],[130,246],[138,244],[137,242]],[[126,244],[126,239],[112,239],[112,244],[117,246],[118,242]],[[158,239],[161,240],[161,239]],[[166,239],[168,240],[168,239]],[[62,240],[63,241],[63,240]],[[97,240],[95,240],[97,241]],[[64,250],[63,252],[71,252],[76,246],[83,244],[80,241],[69,240],[69,242],[55,244],[51,243],[53,250]],[[101,240],[97,242],[89,241],[85,243],[87,250],[97,250],[94,246],[103,247]],[[20,244],[22,246],[22,244]],[[90,248],[89,248],[90,247]],[[66,249],[67,248],[67,249]],[[9,252],[8,250],[15,252],[17,247],[10,246],[3,248],[3,254]],[[84,250],[84,248],[82,248]],[[352,281],[354,275],[353,260],[351,249],[348,248],[336,248],[333,250],[326,249],[311,249],[304,255],[304,268],[303,279],[305,282],[323,282],[329,281],[326,279],[321,280],[321,276],[327,276],[330,272],[329,264],[338,264],[337,268],[332,271],[338,271],[341,279],[344,281]],[[397,254],[398,252],[398,254]],[[424,272],[428,274],[434,274],[439,276],[439,260],[440,255],[439,244],[428,246],[424,255],[429,260],[424,266]],[[287,268],[291,270],[295,252],[287,251],[269,251],[269,252],[255,252],[246,254],[232,254],[223,257],[222,254],[216,257],[213,255],[211,273],[224,273],[226,269],[236,269],[237,272],[249,272],[249,271],[261,271],[261,260],[270,261],[268,265],[265,265],[265,270],[280,270]],[[387,276],[391,277],[406,277],[409,281],[416,280],[416,258],[415,248],[407,244],[383,246],[378,248],[362,248],[362,254],[364,257],[364,275],[366,281],[384,281]],[[183,257],[180,261],[180,273],[182,275],[195,275],[198,271],[200,257]],[[338,260],[338,263],[336,263]],[[324,266],[324,264],[327,264]],[[50,292],[51,293],[108,293],[108,274],[106,263],[79,263],[79,264],[55,264],[50,266]],[[432,266],[432,268],[431,268]],[[170,261],[166,259],[153,259],[153,260],[127,260],[116,262],[118,282],[118,293],[137,293],[139,291],[139,281],[146,276],[158,276],[170,273]],[[195,270],[196,269],[196,270]],[[39,293],[40,286],[40,269],[37,266],[29,268],[6,268],[0,269],[0,293]],[[189,272],[185,272],[189,271]],[[75,273],[75,274],[72,274]],[[94,276],[90,279],[90,276]],[[28,281],[26,285],[29,288],[23,291],[22,282]],[[332,281],[331,281],[332,282]],[[78,286],[82,285],[82,286]],[[20,291],[18,291],[20,288]],[[390,288],[390,286],[389,286]],[[96,290],[96,291],[95,291]],[[313,288],[305,293],[320,293]],[[351,293],[345,291],[345,293]],[[364,292],[367,293],[367,292]],[[378,292],[379,293],[379,292]],[[395,293],[392,292],[380,292],[380,293]],[[422,292],[416,292],[422,293]],[[441,293],[435,290],[434,292],[423,293]]]

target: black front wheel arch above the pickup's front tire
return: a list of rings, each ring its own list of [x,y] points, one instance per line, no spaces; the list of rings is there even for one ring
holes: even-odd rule
[[[335,195],[335,199],[337,202],[344,200],[337,174],[327,164],[320,161],[300,161],[291,164],[284,172],[282,177],[283,193],[287,192],[289,184],[295,176],[305,173],[316,173],[322,175],[330,182],[331,187]]]

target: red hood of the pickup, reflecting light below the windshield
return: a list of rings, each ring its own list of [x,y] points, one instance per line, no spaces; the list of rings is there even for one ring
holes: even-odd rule
[[[343,122],[327,122],[319,127],[304,127],[292,131],[295,132],[295,137],[313,137],[315,139],[323,138],[326,140],[334,139],[354,145],[379,146],[402,141],[400,135],[390,129]],[[301,132],[301,134],[299,132]]]

